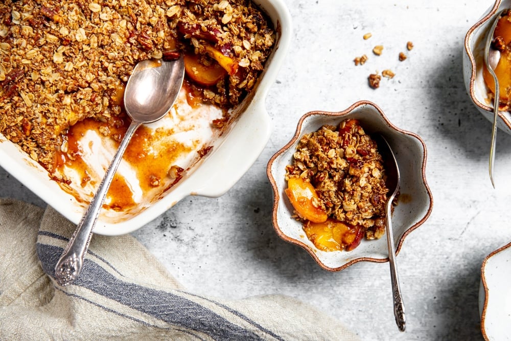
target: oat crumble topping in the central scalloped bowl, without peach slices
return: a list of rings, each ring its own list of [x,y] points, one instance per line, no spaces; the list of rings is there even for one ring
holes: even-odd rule
[[[384,234],[384,176],[378,146],[358,120],[303,135],[286,167],[286,180],[299,177],[313,185],[317,206],[329,219],[362,226],[367,239]]]

